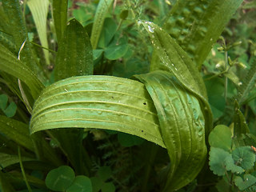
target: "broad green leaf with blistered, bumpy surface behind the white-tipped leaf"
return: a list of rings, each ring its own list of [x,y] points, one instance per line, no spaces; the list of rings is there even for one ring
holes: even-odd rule
[[[180,0],[164,28],[201,68],[213,44],[242,0]]]

